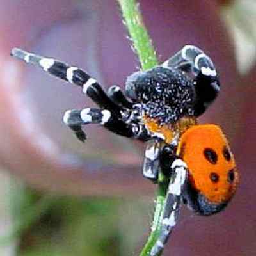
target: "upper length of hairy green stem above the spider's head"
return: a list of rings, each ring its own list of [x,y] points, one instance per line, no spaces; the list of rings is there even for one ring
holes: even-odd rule
[[[139,4],[135,0],[117,0],[120,4],[124,23],[131,36],[133,48],[138,54],[141,68],[147,70],[157,65],[156,51],[152,46],[147,29],[139,10]]]

